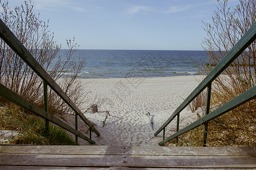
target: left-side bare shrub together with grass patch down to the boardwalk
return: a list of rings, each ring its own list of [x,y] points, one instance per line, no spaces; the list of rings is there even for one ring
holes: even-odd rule
[[[54,41],[54,33],[49,30],[49,20],[40,20],[40,14],[34,12],[31,1],[24,1],[13,9],[9,7],[8,1],[0,1],[0,3],[2,21],[68,97],[81,107],[82,85],[76,78],[85,65],[85,55],[81,55],[79,61],[73,60],[72,56],[79,47],[75,38],[67,40],[68,49],[64,54],[60,53],[61,45]],[[0,41],[0,83],[43,109],[43,80],[2,39]],[[67,72],[68,76],[63,78]],[[68,105],[51,89],[48,89],[48,110],[55,115],[73,114]],[[9,141],[10,143],[38,145],[75,143],[64,130],[56,126],[51,125],[49,134],[45,133],[42,118],[24,111],[2,97],[0,97],[0,117],[0,130],[15,130],[20,133],[18,137]]]

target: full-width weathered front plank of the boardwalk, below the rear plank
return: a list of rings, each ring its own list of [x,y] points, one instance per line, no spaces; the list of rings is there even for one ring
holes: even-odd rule
[[[0,165],[148,168],[256,168],[256,158],[255,156],[1,154]]]

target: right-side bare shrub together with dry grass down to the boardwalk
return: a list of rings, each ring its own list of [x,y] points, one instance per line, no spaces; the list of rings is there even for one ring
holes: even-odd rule
[[[203,42],[208,52],[208,65],[200,72],[208,75],[213,66],[229,52],[256,20],[256,1],[240,0],[237,6],[228,7],[228,0],[218,1],[212,23],[204,23],[207,38]],[[254,41],[212,83],[211,109],[221,107],[243,92],[255,86],[256,41]],[[203,95],[189,105],[192,112],[204,108]],[[202,109],[204,112],[204,110]],[[223,114],[208,124],[207,146],[255,146],[256,144],[255,99]],[[202,115],[204,115],[202,113]],[[199,117],[200,118],[200,117]],[[201,137],[201,139],[199,138]],[[178,146],[202,146],[203,126],[180,136]],[[171,141],[174,143],[174,141]],[[166,145],[169,145],[168,143]],[[170,144],[171,145],[171,144]]]

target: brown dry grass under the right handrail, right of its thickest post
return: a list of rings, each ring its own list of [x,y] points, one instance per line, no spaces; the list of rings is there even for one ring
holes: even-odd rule
[[[255,99],[251,100],[211,121],[208,131],[212,140],[209,141],[214,146],[255,146],[255,101]]]

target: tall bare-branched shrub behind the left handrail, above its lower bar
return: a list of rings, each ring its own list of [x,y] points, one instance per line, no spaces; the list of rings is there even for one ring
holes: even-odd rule
[[[67,40],[68,50],[62,54],[61,46],[53,40],[54,34],[48,29],[49,20],[40,20],[40,15],[34,13],[31,1],[24,1],[21,6],[15,6],[14,10],[11,10],[7,1],[0,3],[3,22],[79,106],[82,101],[82,84],[76,78],[85,66],[85,55],[81,54],[75,61],[74,56],[79,47],[75,39]],[[43,108],[43,80],[2,39],[0,52],[0,83]],[[49,112],[71,112],[55,92],[49,90],[48,94]]]

